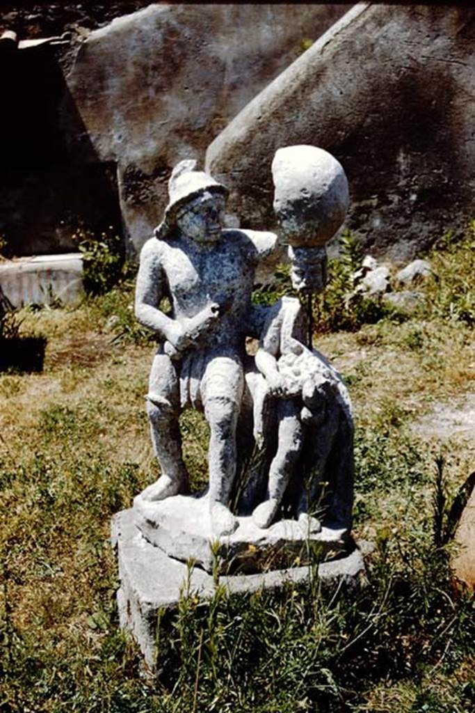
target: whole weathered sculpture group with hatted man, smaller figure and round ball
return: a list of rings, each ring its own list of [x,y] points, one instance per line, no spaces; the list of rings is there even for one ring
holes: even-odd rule
[[[348,183],[338,161],[306,146],[279,149],[273,178],[292,284],[311,294],[325,285],[325,242],[345,217]],[[330,548],[343,546],[353,502],[348,392],[324,357],[306,347],[298,299],[251,305],[256,267],[277,236],[224,230],[226,198],[224,185],[196,170],[195,161],[174,168],[165,216],[142,248],[135,299],[137,319],[161,342],[147,412],[162,471],[135,498],[136,524],[168,554],[205,568],[210,538],[244,559],[255,543],[280,552],[282,543],[301,543],[310,533]],[[246,337],[259,339],[254,360]],[[186,495],[178,419],[187,407],[203,411],[209,424],[209,488],[200,496]],[[248,434],[239,449],[238,429]],[[246,472],[256,451],[261,465]],[[206,552],[197,555],[197,547]]]

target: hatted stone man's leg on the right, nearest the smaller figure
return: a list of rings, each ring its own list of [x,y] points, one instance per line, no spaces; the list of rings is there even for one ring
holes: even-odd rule
[[[244,387],[239,361],[216,357],[207,365],[202,386],[209,424],[209,508],[214,535],[230,535],[237,520],[229,511],[236,474],[236,426]]]

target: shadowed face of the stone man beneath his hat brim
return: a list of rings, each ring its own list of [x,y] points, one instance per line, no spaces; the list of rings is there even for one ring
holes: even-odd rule
[[[196,242],[216,242],[224,225],[224,197],[205,191],[177,215],[179,232]]]

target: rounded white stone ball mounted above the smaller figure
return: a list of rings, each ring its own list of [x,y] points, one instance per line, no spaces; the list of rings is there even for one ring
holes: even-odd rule
[[[273,208],[292,247],[323,247],[345,220],[350,194],[342,165],[323,148],[279,148],[272,162]]]

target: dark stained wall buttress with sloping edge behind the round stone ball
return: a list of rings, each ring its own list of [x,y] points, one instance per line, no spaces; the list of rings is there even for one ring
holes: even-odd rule
[[[346,225],[405,260],[473,213],[475,9],[354,6],[214,140],[207,170],[246,225],[275,225],[277,148],[335,155],[353,200]]]

